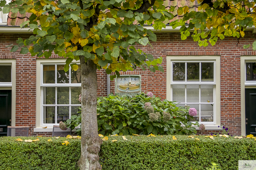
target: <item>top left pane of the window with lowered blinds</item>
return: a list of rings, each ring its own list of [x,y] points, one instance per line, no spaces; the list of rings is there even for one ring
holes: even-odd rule
[[[185,63],[173,63],[173,81],[185,81]]]

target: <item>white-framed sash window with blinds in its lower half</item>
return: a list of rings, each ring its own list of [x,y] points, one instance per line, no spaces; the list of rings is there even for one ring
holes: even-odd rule
[[[171,60],[171,100],[196,108],[193,120],[216,124],[216,60]]]

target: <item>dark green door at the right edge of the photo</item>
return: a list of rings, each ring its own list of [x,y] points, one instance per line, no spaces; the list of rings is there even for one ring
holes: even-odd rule
[[[256,88],[245,88],[245,128],[256,136]]]

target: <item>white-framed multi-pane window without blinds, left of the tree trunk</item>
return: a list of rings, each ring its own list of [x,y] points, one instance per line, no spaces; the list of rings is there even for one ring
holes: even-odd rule
[[[57,125],[72,115],[81,106],[81,70],[69,68],[64,71],[65,63],[41,63],[41,119],[42,126]]]

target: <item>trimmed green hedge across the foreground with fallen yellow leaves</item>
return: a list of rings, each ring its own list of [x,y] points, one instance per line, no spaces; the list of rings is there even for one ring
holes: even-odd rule
[[[132,137],[132,138],[131,138]],[[223,170],[237,170],[238,160],[256,159],[254,139],[186,135],[157,137],[109,137],[101,146],[103,170],[205,170],[215,162]],[[80,139],[39,137],[38,142],[18,142],[17,137],[0,138],[0,170],[77,170]],[[21,137],[36,139],[36,137]],[[52,139],[52,142],[48,142]],[[112,140],[117,139],[117,142]],[[68,146],[62,145],[68,140]]]

